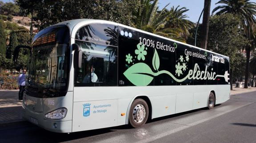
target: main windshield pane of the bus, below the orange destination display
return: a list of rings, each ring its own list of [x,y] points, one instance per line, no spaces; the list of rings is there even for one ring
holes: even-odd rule
[[[65,89],[67,85],[68,44],[50,44],[33,48],[28,86]]]

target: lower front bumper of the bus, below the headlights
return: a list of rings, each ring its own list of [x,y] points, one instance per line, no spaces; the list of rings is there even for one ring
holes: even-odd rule
[[[58,133],[72,132],[72,120],[67,120],[67,121],[48,120],[48,119],[45,119],[45,115],[43,112],[33,112],[28,110],[27,108],[24,109],[23,118],[48,131],[53,131]]]

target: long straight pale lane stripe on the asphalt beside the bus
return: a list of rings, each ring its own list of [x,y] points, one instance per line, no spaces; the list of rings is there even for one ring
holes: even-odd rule
[[[211,117],[209,117],[209,118],[205,118],[205,119],[203,119],[203,120],[199,120],[199,121],[197,121],[197,122],[194,122],[194,123],[191,123],[191,124],[188,124],[188,125],[184,125],[184,126],[182,126],[182,127],[176,128],[176,129],[171,130],[171,131],[164,132],[164,133],[159,134],[159,135],[151,136],[150,138],[143,139],[142,141],[139,141],[139,142],[137,142],[137,143],[148,143],[148,142],[152,142],[152,141],[157,140],[157,139],[161,139],[161,138],[163,138],[163,137],[165,137],[165,136],[167,136],[167,135],[171,135],[171,134],[173,134],[173,133],[175,133],[175,132],[182,131],[182,130],[184,130],[184,129],[186,129],[186,128],[190,128],[190,127],[192,127],[192,126],[195,126],[195,125],[197,125],[197,124],[203,123],[203,122],[205,122],[205,121],[207,121],[207,120],[211,120],[211,119],[213,119],[213,118],[216,118],[216,117],[221,116],[221,115],[223,115],[223,114],[226,114],[226,113],[228,113],[228,112],[232,112],[232,111],[234,111],[234,110],[236,110],[236,109],[242,108],[242,107],[247,106],[247,105],[252,104],[252,103],[254,103],[254,102],[251,102],[251,103],[248,103],[248,104],[244,104],[244,105],[242,105],[242,106],[239,106],[239,107],[230,109],[230,110],[228,110],[228,111],[221,112],[221,113],[219,113],[219,114],[217,114],[217,115],[215,115],[215,116],[211,116]]]

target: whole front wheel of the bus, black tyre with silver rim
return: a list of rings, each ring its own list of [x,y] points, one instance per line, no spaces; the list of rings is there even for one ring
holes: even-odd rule
[[[145,109],[145,112],[143,111],[143,107]],[[138,108],[137,112],[136,112],[136,108]],[[134,112],[136,112],[136,114],[134,114]],[[138,118],[135,118],[134,116],[136,116],[136,115],[138,115],[139,116],[138,118],[142,119],[142,120],[139,120]],[[144,117],[144,115],[145,115],[145,117]],[[141,118],[141,116],[142,116],[142,118]],[[143,99],[134,100],[133,103],[131,104],[131,107],[130,107],[129,124],[133,128],[142,127],[142,125],[144,125],[146,123],[146,121],[148,119],[148,116],[149,116],[149,108],[148,108],[148,105],[147,105],[146,101],[143,100]]]

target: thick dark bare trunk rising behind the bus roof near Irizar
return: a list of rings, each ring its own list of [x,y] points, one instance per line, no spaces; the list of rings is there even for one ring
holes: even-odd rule
[[[209,31],[211,0],[204,0],[204,8],[205,8],[205,10],[203,12],[201,48],[206,49],[207,48],[208,31]]]

